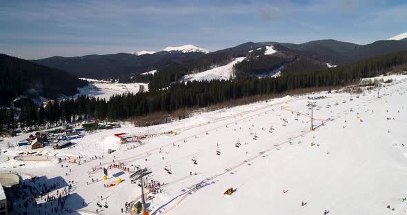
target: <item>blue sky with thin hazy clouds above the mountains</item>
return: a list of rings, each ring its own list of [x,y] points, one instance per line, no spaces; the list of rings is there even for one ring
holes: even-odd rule
[[[0,52],[23,59],[247,41],[372,43],[407,32],[407,1],[1,1]]]

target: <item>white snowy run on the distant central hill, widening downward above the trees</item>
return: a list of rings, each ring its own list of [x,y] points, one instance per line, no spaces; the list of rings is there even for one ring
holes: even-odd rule
[[[235,74],[233,72],[233,65],[243,61],[245,57],[238,57],[234,61],[222,65],[216,68],[212,68],[210,70],[206,70],[204,72],[188,74],[183,76],[183,81],[211,81],[211,80],[228,80],[230,77],[234,77]]]

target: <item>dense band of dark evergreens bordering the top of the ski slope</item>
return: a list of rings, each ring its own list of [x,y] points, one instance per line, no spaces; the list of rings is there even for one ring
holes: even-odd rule
[[[172,112],[183,107],[207,107],[216,103],[259,94],[277,94],[300,88],[344,85],[362,78],[385,74],[407,65],[407,51],[375,57],[337,68],[283,74],[277,78],[237,78],[231,81],[175,83],[168,90],[115,95],[106,101],[88,96],[49,103],[46,107],[25,104],[14,122],[11,111],[0,110],[0,127],[55,124],[78,119],[128,119],[158,111]]]

